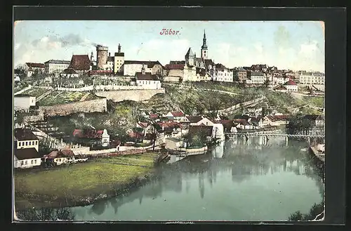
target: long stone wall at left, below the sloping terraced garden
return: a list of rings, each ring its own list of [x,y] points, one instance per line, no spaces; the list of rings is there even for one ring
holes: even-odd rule
[[[48,116],[65,116],[78,112],[106,112],[107,99],[86,100],[61,105],[43,106],[39,110],[46,112]]]

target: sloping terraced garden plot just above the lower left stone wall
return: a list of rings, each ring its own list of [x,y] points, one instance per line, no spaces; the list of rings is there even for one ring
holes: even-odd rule
[[[64,103],[74,103],[81,100],[87,92],[54,91],[38,102],[39,106],[51,106]],[[84,100],[94,100],[98,96],[90,93]]]

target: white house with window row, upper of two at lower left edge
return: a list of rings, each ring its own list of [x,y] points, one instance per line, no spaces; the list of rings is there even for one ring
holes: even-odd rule
[[[39,138],[27,128],[15,128],[15,148],[17,150],[34,148],[39,152]]]

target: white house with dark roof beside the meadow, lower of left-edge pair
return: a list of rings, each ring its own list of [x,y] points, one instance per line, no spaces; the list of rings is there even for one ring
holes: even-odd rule
[[[34,147],[17,149],[14,152],[14,167],[16,169],[29,169],[41,165],[41,157]]]

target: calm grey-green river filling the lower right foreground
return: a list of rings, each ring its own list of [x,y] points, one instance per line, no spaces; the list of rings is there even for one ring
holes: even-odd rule
[[[322,202],[324,184],[307,143],[227,140],[207,154],[159,169],[159,179],[123,197],[70,208],[75,220],[287,220]]]

